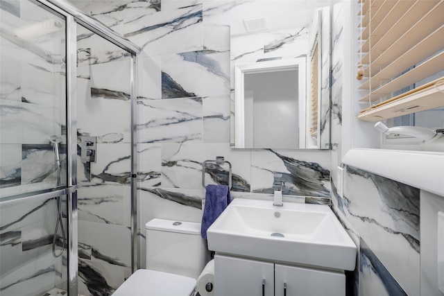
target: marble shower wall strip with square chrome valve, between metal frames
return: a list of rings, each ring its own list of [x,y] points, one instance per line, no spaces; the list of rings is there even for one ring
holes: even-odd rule
[[[91,52],[77,68],[78,292],[111,295],[131,274],[131,62],[81,26],[77,46]],[[80,158],[83,136],[96,137],[95,162]]]

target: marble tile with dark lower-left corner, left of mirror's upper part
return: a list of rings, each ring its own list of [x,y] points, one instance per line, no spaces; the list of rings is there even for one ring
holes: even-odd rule
[[[229,94],[229,60],[228,48],[162,55],[162,98]]]

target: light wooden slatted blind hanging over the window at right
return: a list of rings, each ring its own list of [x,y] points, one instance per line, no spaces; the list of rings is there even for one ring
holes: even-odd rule
[[[444,0],[357,1],[364,68],[359,101],[370,105],[358,119],[443,107]]]

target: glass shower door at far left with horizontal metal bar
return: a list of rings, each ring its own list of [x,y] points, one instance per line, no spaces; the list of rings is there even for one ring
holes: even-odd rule
[[[0,295],[67,290],[67,20],[0,5]]]

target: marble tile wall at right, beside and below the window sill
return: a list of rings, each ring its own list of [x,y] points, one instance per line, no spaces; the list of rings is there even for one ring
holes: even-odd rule
[[[430,253],[434,245],[423,247],[424,238],[436,227],[436,221],[430,226],[434,218],[431,210],[425,209],[425,200],[430,207],[439,203],[438,198],[425,198],[412,186],[342,164],[342,141],[347,139],[342,132],[343,87],[348,85],[343,75],[343,62],[348,57],[343,49],[353,42],[344,35],[344,26],[348,26],[344,20],[350,5],[345,1],[333,5],[330,155],[332,209],[359,250],[357,268],[347,274],[348,295],[442,295],[431,285],[436,281],[436,262],[427,261],[436,254]],[[345,170],[343,192],[339,191],[337,166]],[[424,225],[425,221],[430,224]]]

